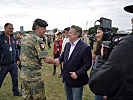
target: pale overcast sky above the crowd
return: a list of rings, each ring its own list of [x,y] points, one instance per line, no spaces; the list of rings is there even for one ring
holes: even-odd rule
[[[0,0],[0,31],[7,22],[14,25],[14,31],[20,26],[24,31],[31,30],[36,18],[46,20],[47,29],[62,30],[71,25],[88,29],[100,17],[111,19],[112,26],[125,30],[131,28],[133,14],[123,8],[131,4],[133,0]]]

